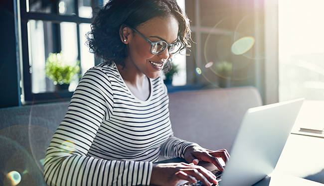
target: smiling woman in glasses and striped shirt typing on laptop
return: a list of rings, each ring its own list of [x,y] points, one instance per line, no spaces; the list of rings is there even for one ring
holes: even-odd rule
[[[173,54],[189,47],[188,19],[175,0],[110,0],[97,14],[88,45],[104,63],[90,69],[47,149],[49,186],[216,184],[197,166],[209,151],[173,136],[161,78]],[[181,157],[189,164],[155,164]]]

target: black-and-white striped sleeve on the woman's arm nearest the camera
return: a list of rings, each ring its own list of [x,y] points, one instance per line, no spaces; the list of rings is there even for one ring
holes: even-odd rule
[[[116,161],[88,156],[103,120],[113,113],[109,77],[89,70],[74,92],[68,112],[47,149],[44,179],[48,186],[149,185],[152,163]]]

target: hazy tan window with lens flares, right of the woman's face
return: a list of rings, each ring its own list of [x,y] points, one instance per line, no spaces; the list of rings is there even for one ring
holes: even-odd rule
[[[193,44],[187,57],[187,84],[212,87],[255,86],[260,75],[256,44],[260,25],[254,2],[186,0]],[[236,50],[236,51],[235,51]],[[224,69],[226,70],[220,70]],[[261,68],[260,68],[261,69]]]

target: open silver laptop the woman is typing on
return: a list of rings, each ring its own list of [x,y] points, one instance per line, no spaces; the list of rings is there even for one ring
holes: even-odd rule
[[[248,109],[219,186],[251,186],[272,173],[303,102],[300,98]],[[209,163],[199,165],[217,169]]]

